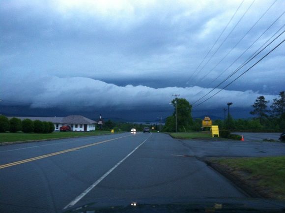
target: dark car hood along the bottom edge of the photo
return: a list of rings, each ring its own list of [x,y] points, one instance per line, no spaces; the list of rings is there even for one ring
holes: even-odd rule
[[[96,200],[64,213],[285,213],[285,202],[252,198]]]

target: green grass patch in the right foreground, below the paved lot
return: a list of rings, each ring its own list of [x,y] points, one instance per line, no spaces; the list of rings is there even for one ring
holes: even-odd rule
[[[285,199],[285,156],[214,160],[233,170],[249,173],[261,187],[269,188],[276,198]]]

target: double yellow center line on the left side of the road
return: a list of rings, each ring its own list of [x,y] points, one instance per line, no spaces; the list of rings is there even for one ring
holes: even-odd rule
[[[46,157],[51,157],[51,156],[54,156],[54,155],[57,155],[57,154],[62,154],[62,153],[66,153],[66,152],[72,152],[72,151],[75,151],[75,150],[79,150],[79,149],[83,149],[83,148],[86,148],[86,147],[95,146],[95,145],[98,145],[98,144],[106,143],[106,142],[109,142],[109,141],[114,141],[116,139],[125,138],[125,137],[129,137],[129,136],[131,136],[131,135],[122,136],[122,137],[118,137],[118,138],[113,138],[113,139],[109,139],[109,140],[105,140],[105,141],[96,142],[96,143],[93,143],[93,144],[87,144],[87,145],[84,145],[84,146],[81,146],[81,147],[76,147],[76,148],[72,148],[72,149],[68,149],[68,150],[63,150],[63,151],[60,151],[60,152],[54,152],[54,153],[50,153],[50,154],[45,154],[45,155],[41,155],[41,156],[37,156],[37,157],[28,158],[28,159],[25,159],[25,160],[20,160],[20,161],[16,161],[16,162],[12,162],[12,163],[3,164],[3,165],[0,165],[0,169],[4,169],[4,168],[10,167],[10,166],[16,166],[16,165],[19,165],[19,164],[22,164],[22,163],[28,163],[28,162],[31,162],[31,161],[34,161],[34,160],[39,160],[39,159],[46,158]]]

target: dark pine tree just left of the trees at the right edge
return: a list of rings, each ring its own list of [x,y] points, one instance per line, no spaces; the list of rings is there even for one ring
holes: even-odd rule
[[[269,110],[267,110],[267,104],[269,103],[269,101],[266,101],[264,96],[259,96],[256,99],[256,102],[252,105],[252,107],[254,108],[253,111],[250,112],[250,114],[252,115],[256,115],[259,119],[260,124],[265,122],[265,119],[268,117],[267,113],[269,112]]]

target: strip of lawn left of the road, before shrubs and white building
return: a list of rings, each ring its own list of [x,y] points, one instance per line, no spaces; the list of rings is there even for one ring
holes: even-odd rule
[[[93,136],[111,134],[110,131],[91,131],[91,132],[53,132],[49,134],[35,134],[35,133],[0,133],[0,143],[14,142],[14,141],[30,141],[43,139],[59,139],[78,136]]]

